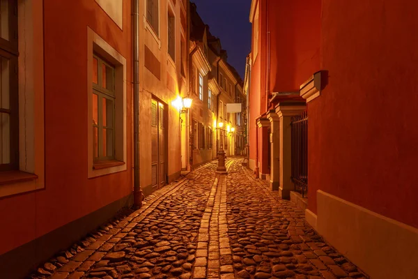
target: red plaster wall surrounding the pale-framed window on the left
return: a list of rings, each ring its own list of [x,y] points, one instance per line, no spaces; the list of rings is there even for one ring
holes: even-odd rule
[[[44,0],[45,190],[0,199],[0,254],[132,193],[130,2],[123,31],[93,0]],[[87,26],[127,60],[127,171],[87,179]]]

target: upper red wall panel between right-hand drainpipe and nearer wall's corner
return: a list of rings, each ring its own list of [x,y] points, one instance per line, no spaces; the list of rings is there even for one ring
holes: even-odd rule
[[[270,91],[297,91],[320,66],[321,0],[268,0]]]

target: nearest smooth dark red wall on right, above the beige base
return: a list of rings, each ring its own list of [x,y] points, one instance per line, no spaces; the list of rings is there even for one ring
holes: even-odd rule
[[[322,67],[309,103],[309,209],[316,190],[418,227],[417,1],[323,0]]]

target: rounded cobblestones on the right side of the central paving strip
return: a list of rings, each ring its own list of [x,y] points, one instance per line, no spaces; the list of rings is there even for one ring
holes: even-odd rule
[[[235,278],[367,278],[316,234],[304,212],[239,165],[227,178]]]

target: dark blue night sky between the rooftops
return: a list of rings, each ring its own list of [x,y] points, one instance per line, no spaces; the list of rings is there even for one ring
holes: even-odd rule
[[[228,63],[244,80],[245,57],[251,51],[251,0],[192,0],[197,13],[209,25],[210,33],[221,39],[228,52]]]

